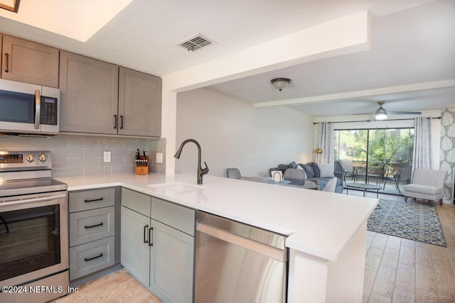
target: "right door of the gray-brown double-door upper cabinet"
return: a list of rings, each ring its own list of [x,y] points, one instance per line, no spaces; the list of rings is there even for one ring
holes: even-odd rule
[[[119,134],[161,136],[161,78],[119,70]]]

